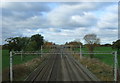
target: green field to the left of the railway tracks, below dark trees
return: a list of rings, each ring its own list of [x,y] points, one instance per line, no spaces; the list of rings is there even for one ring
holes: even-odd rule
[[[43,52],[48,52],[48,49],[43,50]],[[23,60],[21,60],[21,55],[14,55],[13,65],[22,64],[33,58],[39,57],[40,55],[23,55]],[[9,51],[2,50],[2,69],[9,67]]]

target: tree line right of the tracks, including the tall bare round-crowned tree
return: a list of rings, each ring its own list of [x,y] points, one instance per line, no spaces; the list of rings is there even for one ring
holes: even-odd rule
[[[117,49],[118,53],[120,53],[120,39],[114,41],[112,44],[100,44],[100,38],[98,38],[96,34],[87,34],[83,37],[83,39],[86,42],[84,45],[78,41],[66,42],[65,45],[73,45],[75,47],[78,46],[78,48],[81,45],[81,47],[86,47],[90,53],[93,53],[95,48],[98,46],[105,46],[111,47],[112,49]],[[94,54],[90,54],[90,57],[93,58]]]

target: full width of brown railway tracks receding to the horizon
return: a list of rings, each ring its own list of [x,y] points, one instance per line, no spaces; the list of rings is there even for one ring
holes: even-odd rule
[[[78,63],[67,51],[56,49],[25,81],[99,81],[88,69]]]

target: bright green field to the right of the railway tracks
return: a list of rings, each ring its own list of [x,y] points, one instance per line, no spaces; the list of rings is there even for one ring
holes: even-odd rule
[[[75,51],[79,51],[79,48],[76,48]],[[82,52],[88,51],[87,48],[82,48]],[[112,52],[115,51],[111,47],[96,47],[94,51],[103,51],[103,52]],[[83,55],[83,56],[89,56],[89,55]],[[114,64],[114,56],[112,54],[95,54],[94,58],[99,59],[100,61],[113,66]],[[120,58],[118,58],[118,61],[120,61]]]

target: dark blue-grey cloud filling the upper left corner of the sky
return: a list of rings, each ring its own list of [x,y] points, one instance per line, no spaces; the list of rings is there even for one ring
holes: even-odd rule
[[[47,3],[35,2],[6,2],[2,6],[2,15],[5,17],[14,17],[18,19],[26,19],[35,15],[43,15],[49,12],[51,8]]]

